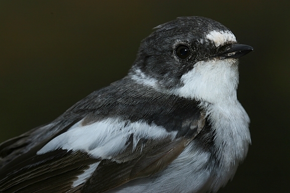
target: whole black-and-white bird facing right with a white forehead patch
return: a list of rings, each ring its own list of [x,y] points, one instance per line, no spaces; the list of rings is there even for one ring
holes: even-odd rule
[[[209,193],[245,159],[239,44],[221,23],[153,28],[128,74],[0,144],[0,193]]]

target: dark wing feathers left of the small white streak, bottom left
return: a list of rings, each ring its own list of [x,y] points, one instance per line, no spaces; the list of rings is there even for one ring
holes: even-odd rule
[[[1,193],[62,193],[72,189],[89,165],[99,160],[84,152],[55,150],[43,155],[35,155],[14,166],[3,179],[0,179]],[[63,190],[63,191],[61,191]]]

